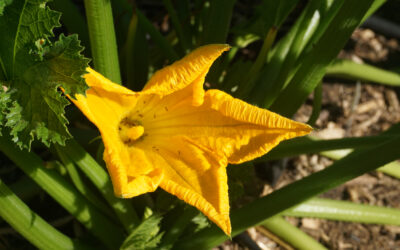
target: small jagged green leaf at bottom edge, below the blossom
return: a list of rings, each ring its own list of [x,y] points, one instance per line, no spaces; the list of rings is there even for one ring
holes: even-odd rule
[[[163,236],[163,233],[159,233],[161,219],[160,215],[152,215],[145,219],[126,238],[120,249],[156,249]]]

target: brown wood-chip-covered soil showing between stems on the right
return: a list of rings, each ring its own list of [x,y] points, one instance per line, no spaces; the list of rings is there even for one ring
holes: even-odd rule
[[[388,39],[369,29],[357,29],[339,58],[356,62],[384,64],[399,55],[396,39]],[[323,102],[315,134],[326,139],[376,135],[400,122],[399,90],[364,82],[325,79]],[[312,96],[301,107],[295,120],[307,122]],[[293,181],[329,166],[332,160],[319,155],[289,159],[275,185],[264,184],[266,195]],[[380,172],[368,173],[349,181],[321,197],[400,209],[400,180]],[[400,227],[328,221],[313,218],[286,218],[328,249],[400,249]],[[275,241],[274,241],[274,240]],[[233,242],[216,249],[292,249],[263,228],[252,228]]]

